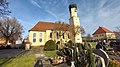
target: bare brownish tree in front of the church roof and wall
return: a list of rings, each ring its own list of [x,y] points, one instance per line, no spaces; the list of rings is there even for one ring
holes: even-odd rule
[[[68,31],[69,24],[66,24],[64,22],[58,21],[54,25],[54,31],[58,33],[58,36],[60,38],[60,45],[62,44],[62,36],[66,31]]]

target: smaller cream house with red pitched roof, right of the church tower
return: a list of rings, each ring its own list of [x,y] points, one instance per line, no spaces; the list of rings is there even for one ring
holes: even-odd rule
[[[115,33],[105,27],[99,28],[93,33],[94,40],[111,40],[116,39]]]

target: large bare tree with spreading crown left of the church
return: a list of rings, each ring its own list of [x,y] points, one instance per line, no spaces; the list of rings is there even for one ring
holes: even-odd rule
[[[22,32],[23,26],[15,18],[3,17],[0,20],[0,34],[6,39],[6,44],[10,39],[19,37]]]

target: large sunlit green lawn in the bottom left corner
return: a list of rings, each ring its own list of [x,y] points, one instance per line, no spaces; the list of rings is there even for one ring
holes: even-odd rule
[[[0,67],[33,67],[34,55],[21,55],[15,58],[0,59]]]

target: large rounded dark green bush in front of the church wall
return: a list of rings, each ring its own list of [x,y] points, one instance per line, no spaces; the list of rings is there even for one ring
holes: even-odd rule
[[[53,40],[49,40],[45,43],[44,50],[46,51],[53,51],[56,50],[56,44]]]

